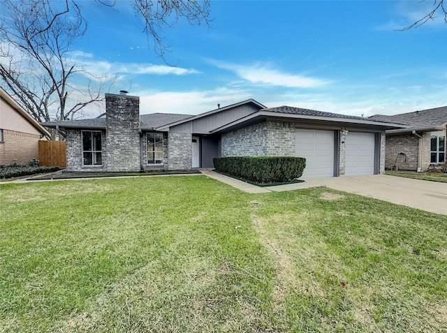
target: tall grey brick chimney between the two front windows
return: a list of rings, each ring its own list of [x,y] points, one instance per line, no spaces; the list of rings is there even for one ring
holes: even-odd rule
[[[140,171],[140,97],[105,94],[107,171]]]

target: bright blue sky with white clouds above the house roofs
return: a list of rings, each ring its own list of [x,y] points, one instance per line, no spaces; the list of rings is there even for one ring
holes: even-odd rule
[[[157,58],[129,1],[82,1],[78,65],[117,75],[140,112],[199,114],[254,98],[368,117],[447,105],[447,24],[409,31],[432,1],[213,1],[212,28],[180,20]],[[88,114],[85,116],[87,117]]]

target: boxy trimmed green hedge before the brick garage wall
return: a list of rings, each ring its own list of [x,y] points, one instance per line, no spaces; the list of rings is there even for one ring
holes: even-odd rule
[[[306,167],[306,158],[291,156],[217,157],[213,162],[219,172],[261,184],[291,182]]]

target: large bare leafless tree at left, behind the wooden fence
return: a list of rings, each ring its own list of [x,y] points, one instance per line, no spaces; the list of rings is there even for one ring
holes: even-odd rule
[[[87,29],[75,3],[2,0],[1,6],[0,78],[34,119],[73,119],[101,101],[102,84],[92,87],[96,78],[68,57]],[[80,74],[89,76],[87,88],[71,84]]]

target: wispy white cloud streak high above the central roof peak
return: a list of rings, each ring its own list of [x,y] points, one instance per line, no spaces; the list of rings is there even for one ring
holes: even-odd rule
[[[268,64],[256,63],[248,66],[231,64],[223,61],[208,60],[219,68],[232,71],[239,77],[254,84],[267,84],[288,88],[317,88],[330,81],[299,74],[282,73]]]

